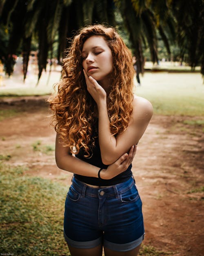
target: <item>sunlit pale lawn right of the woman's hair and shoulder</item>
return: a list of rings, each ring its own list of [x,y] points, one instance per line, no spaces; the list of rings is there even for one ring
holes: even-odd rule
[[[146,72],[140,80],[136,94],[153,104],[155,114],[204,115],[204,84],[200,74]]]

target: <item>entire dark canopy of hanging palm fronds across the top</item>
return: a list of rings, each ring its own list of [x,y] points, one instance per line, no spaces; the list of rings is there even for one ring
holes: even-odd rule
[[[46,70],[49,52],[52,59],[56,41],[60,61],[64,49],[69,47],[70,39],[80,27],[95,23],[116,26],[116,13],[120,13],[124,21],[121,27],[129,36],[140,72],[144,70],[143,49],[148,47],[151,61],[158,62],[157,35],[160,34],[170,54],[169,45],[175,42],[175,31],[180,56],[184,58],[187,54],[192,69],[200,62],[204,69],[203,0],[4,0],[0,2],[0,35],[3,34],[0,53],[4,54],[7,73],[12,73],[13,54],[22,50],[26,78],[31,40],[35,36],[39,51],[39,81],[42,70]]]

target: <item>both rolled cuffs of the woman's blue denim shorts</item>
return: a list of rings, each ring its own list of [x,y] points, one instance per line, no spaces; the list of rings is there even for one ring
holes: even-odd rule
[[[68,245],[78,249],[91,249],[102,244],[102,237],[99,237],[91,241],[80,242],[80,241],[71,240],[70,238],[67,237],[67,235],[64,232],[64,238]],[[104,247],[111,249],[113,251],[131,251],[132,249],[135,249],[138,245],[140,245],[143,240],[144,240],[144,234],[140,236],[140,238],[137,238],[136,240],[132,242],[128,242],[126,244],[116,244],[116,243],[104,240]]]

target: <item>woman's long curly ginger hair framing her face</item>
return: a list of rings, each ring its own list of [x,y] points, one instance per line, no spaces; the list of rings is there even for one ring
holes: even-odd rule
[[[96,103],[87,91],[82,72],[82,48],[91,36],[103,37],[112,52],[112,85],[107,109],[114,136],[126,129],[133,111],[134,69],[130,50],[112,27],[91,25],[80,29],[63,59],[62,81],[57,84],[58,93],[48,101],[54,112],[51,124],[60,134],[64,146],[68,146],[73,154],[83,148],[86,157],[90,156],[90,149],[94,145],[92,134],[97,122],[93,115]]]

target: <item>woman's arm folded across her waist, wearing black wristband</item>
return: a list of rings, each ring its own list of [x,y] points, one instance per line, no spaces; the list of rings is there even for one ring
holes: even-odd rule
[[[103,169],[100,172],[100,177],[102,179],[112,179],[121,172],[124,172],[133,161],[135,153],[136,147],[131,147],[129,154],[123,154],[115,163],[109,165],[107,169]],[[63,147],[59,134],[56,135],[55,160],[58,167],[62,170],[98,178],[99,168],[73,156],[68,147]]]

